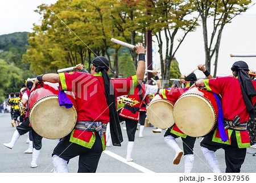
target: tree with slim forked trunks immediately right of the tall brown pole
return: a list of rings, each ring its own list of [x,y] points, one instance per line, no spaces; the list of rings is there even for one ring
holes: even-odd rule
[[[147,29],[156,36],[160,54],[163,80],[170,79],[171,61],[187,34],[195,30],[197,18],[192,16],[196,11],[190,1],[159,0],[148,1]],[[183,33],[181,33],[181,31]],[[181,36],[182,35],[182,36]],[[167,87],[164,83],[163,87]]]

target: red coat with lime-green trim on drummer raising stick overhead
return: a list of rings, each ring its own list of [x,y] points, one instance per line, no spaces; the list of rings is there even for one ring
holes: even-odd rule
[[[100,121],[104,124],[109,122],[109,108],[106,103],[105,88],[102,73],[95,75],[72,72],[60,73],[60,90],[76,93],[77,121]],[[137,76],[129,78],[111,79],[115,97],[133,93],[137,86]],[[86,148],[92,148],[96,140],[94,131],[73,129],[70,142]],[[106,148],[106,136],[102,135],[102,148]]]

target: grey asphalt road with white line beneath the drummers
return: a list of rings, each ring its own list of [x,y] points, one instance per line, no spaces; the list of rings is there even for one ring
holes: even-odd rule
[[[121,125],[122,127],[125,124]],[[138,125],[139,127],[139,125]],[[144,128],[144,137],[139,138],[139,131],[135,134],[135,143],[133,149],[133,163],[126,163],[127,148],[127,134],[122,129],[123,139],[121,147],[106,147],[106,151],[102,153],[100,162],[98,164],[97,173],[142,173],[142,172],[155,172],[155,173],[183,173],[184,160],[181,159],[179,165],[172,164],[174,158],[174,151],[167,146],[163,141],[162,133],[152,133],[153,127]],[[15,127],[11,126],[10,113],[0,113],[0,172],[1,173],[50,173],[53,169],[51,154],[53,148],[57,144],[57,140],[50,140],[43,138],[43,147],[40,151],[38,159],[38,167],[30,168],[32,154],[24,154],[27,150],[28,144],[26,143],[27,134],[20,136],[14,148],[10,150],[3,146],[3,143],[9,143],[13,136]],[[201,138],[198,138],[195,143],[194,154],[194,167],[193,173],[211,173],[207,162],[200,149]],[[176,139],[179,146],[182,148],[181,139]],[[256,148],[247,148],[247,155],[245,162],[242,165],[242,173],[256,172],[256,156],[253,154]],[[218,163],[222,172],[225,172],[225,159],[224,150],[216,152]],[[75,173],[78,168],[78,157],[73,158],[68,164],[69,172]]]

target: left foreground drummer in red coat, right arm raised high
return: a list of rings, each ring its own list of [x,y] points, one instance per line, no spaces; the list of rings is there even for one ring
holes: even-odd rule
[[[91,74],[72,72],[40,75],[34,82],[60,83],[61,90],[76,92],[77,124],[53,150],[52,159],[56,172],[68,172],[69,159],[79,156],[78,172],[96,172],[98,161],[106,147],[106,125],[110,122],[112,143],[121,146],[122,133],[115,108],[115,98],[134,92],[142,82],[145,70],[146,50],[137,44],[139,62],[137,73],[125,79],[108,76],[109,61],[96,57],[92,61]],[[111,81],[111,82],[110,82]]]

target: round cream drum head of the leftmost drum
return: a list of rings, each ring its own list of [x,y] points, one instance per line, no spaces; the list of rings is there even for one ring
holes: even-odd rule
[[[40,136],[48,139],[63,138],[73,130],[77,121],[75,107],[60,107],[57,95],[38,100],[30,110],[30,124]]]

